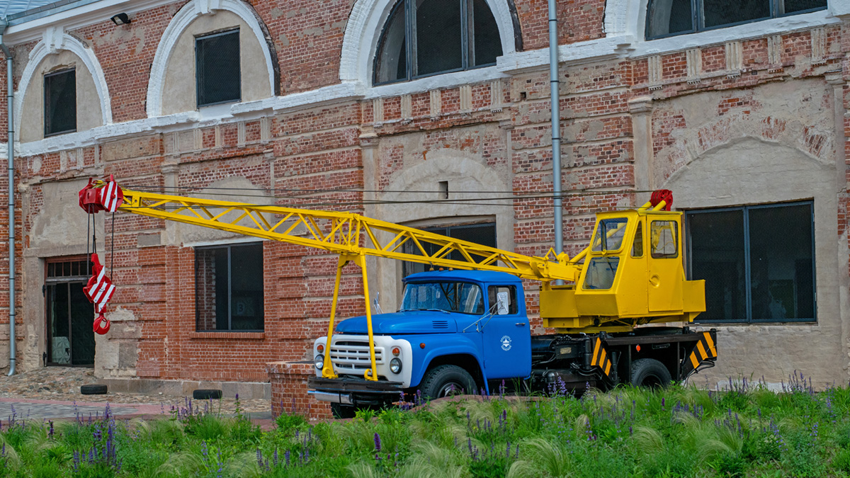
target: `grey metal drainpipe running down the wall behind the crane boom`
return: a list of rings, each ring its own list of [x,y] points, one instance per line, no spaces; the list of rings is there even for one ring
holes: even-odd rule
[[[558,14],[549,0],[549,88],[552,102],[552,175],[555,207],[555,253],[564,252],[564,219],[561,210],[561,112],[558,91]],[[555,281],[563,284],[563,281]]]

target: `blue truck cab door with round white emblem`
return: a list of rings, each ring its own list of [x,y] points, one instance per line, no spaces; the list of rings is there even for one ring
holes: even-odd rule
[[[507,296],[503,307],[497,304],[500,293],[502,297]],[[531,324],[524,314],[525,308],[518,302],[524,298],[517,297],[517,286],[489,285],[487,299],[487,314],[481,321],[484,373],[489,379],[528,377],[531,373]]]

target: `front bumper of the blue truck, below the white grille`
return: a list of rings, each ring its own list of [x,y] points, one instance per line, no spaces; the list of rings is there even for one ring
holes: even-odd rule
[[[339,377],[307,379],[310,395],[316,400],[346,405],[383,405],[399,401],[404,392],[401,382],[372,382],[363,378]]]

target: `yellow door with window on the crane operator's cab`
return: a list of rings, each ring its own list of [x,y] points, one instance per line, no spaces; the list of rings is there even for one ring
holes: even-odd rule
[[[677,216],[649,215],[649,312],[682,310],[681,223]]]

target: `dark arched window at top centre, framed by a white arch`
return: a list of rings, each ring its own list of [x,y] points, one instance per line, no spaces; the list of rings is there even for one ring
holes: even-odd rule
[[[399,0],[378,43],[373,82],[495,65],[498,56],[499,29],[485,0]]]

